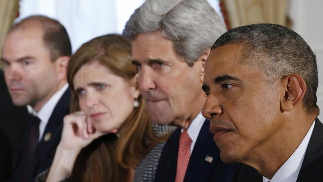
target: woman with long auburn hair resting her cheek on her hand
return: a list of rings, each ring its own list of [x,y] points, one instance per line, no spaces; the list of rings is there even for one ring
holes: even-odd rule
[[[83,44],[67,68],[71,113],[64,118],[47,182],[130,182],[156,136],[136,82],[131,44],[110,34]]]

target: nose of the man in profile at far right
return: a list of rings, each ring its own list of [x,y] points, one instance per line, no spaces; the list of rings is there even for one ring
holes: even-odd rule
[[[222,113],[223,109],[219,100],[214,95],[208,95],[202,108],[202,115],[210,120],[215,116],[220,116]]]

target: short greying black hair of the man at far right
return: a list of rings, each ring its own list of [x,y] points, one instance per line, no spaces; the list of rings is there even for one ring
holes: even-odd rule
[[[289,74],[302,76],[307,85],[303,107],[318,113],[316,56],[296,32],[277,24],[252,24],[231,29],[221,35],[211,50],[227,44],[244,44],[243,62],[256,65],[271,82]]]

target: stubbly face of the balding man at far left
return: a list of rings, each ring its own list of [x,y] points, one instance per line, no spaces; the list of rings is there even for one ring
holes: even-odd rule
[[[15,105],[35,111],[58,91],[56,63],[43,43],[43,30],[35,24],[10,32],[2,50],[4,76]]]

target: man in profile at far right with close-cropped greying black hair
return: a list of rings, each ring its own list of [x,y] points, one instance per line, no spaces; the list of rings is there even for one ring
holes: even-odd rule
[[[232,29],[205,63],[202,114],[236,182],[322,182],[316,58],[300,35],[275,24]]]

